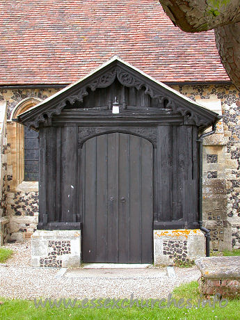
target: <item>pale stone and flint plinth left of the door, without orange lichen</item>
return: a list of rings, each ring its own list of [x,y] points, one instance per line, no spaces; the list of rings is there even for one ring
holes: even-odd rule
[[[32,266],[79,267],[81,232],[79,230],[37,230],[31,236]]]

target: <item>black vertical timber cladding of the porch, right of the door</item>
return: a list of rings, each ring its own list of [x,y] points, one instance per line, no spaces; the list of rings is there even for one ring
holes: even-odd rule
[[[193,126],[161,126],[159,127],[159,143],[157,150],[157,202],[159,205],[157,225],[164,222],[179,221],[179,225],[188,225],[198,221],[198,154],[197,129]],[[188,218],[184,200],[190,200],[188,188],[194,203]],[[189,213],[190,214],[190,213]]]

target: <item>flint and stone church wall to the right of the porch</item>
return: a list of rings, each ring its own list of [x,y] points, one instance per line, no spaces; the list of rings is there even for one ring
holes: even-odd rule
[[[213,250],[240,248],[240,93],[230,84],[174,88],[223,115],[204,141],[203,218]]]

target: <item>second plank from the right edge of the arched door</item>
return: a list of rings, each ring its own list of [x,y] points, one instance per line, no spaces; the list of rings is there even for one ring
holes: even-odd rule
[[[140,150],[141,138],[130,136],[130,262],[141,263]]]

